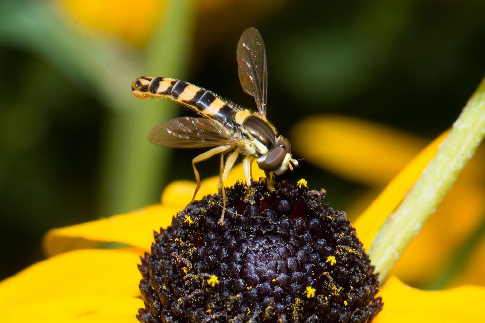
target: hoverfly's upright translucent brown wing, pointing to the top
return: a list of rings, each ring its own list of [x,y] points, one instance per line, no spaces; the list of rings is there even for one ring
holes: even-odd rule
[[[254,97],[259,113],[265,116],[268,88],[266,50],[256,28],[248,28],[242,33],[236,55],[242,89]]]

